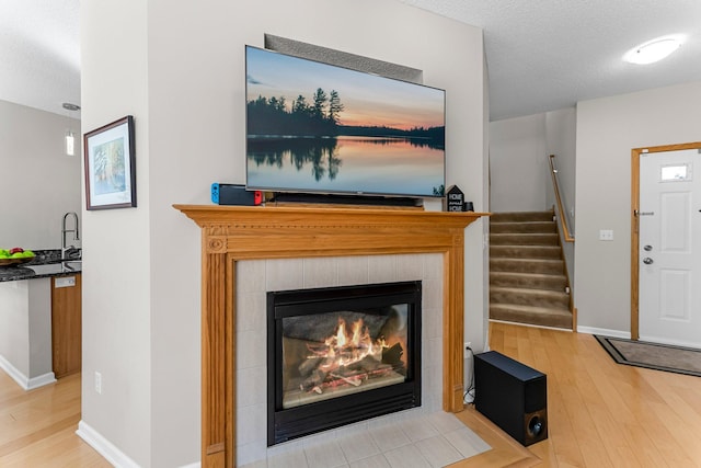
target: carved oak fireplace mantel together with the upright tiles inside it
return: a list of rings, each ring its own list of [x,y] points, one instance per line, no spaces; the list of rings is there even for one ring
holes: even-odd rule
[[[264,456],[267,418],[260,399],[265,400],[267,391],[258,386],[266,381],[263,330],[269,290],[422,281],[421,410],[462,410],[464,228],[483,214],[333,206],[174,207],[202,228],[204,467],[232,467]]]

